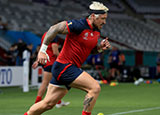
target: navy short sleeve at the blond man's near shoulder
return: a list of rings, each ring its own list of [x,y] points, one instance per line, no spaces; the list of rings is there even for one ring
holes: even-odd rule
[[[82,20],[70,20],[67,22],[67,26],[70,33],[80,34],[85,29]]]

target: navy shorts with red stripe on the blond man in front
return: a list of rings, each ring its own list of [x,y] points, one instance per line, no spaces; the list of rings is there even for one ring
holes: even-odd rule
[[[68,90],[69,85],[83,72],[74,64],[62,64],[57,61],[52,66],[52,80],[51,84],[58,86],[65,86]]]

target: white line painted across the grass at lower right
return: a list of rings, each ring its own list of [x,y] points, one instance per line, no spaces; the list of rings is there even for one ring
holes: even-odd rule
[[[132,111],[113,113],[113,114],[109,114],[109,115],[124,115],[124,114],[127,114],[127,113],[144,112],[144,111],[151,111],[151,110],[157,110],[157,109],[160,109],[160,107],[152,107],[152,108],[146,108],[146,109],[137,109],[137,110],[132,110]]]

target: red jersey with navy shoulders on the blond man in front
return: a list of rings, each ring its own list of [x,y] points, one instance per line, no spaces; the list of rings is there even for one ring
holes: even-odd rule
[[[71,20],[67,23],[68,34],[56,61],[81,67],[96,46],[100,31],[93,28],[88,19]]]

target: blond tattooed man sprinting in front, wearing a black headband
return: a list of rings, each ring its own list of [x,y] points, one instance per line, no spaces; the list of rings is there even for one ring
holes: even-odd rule
[[[57,34],[67,34],[67,36],[63,48],[53,64],[53,77],[45,98],[32,105],[24,115],[41,115],[52,109],[71,87],[87,93],[82,115],[91,115],[101,88],[99,83],[80,67],[97,45],[100,29],[106,23],[108,8],[99,2],[93,2],[89,8],[88,18],[62,21],[48,30],[38,54],[38,62],[42,64],[49,59],[46,50],[53,38]],[[110,44],[106,38],[100,42],[98,50],[103,51],[109,47]]]

